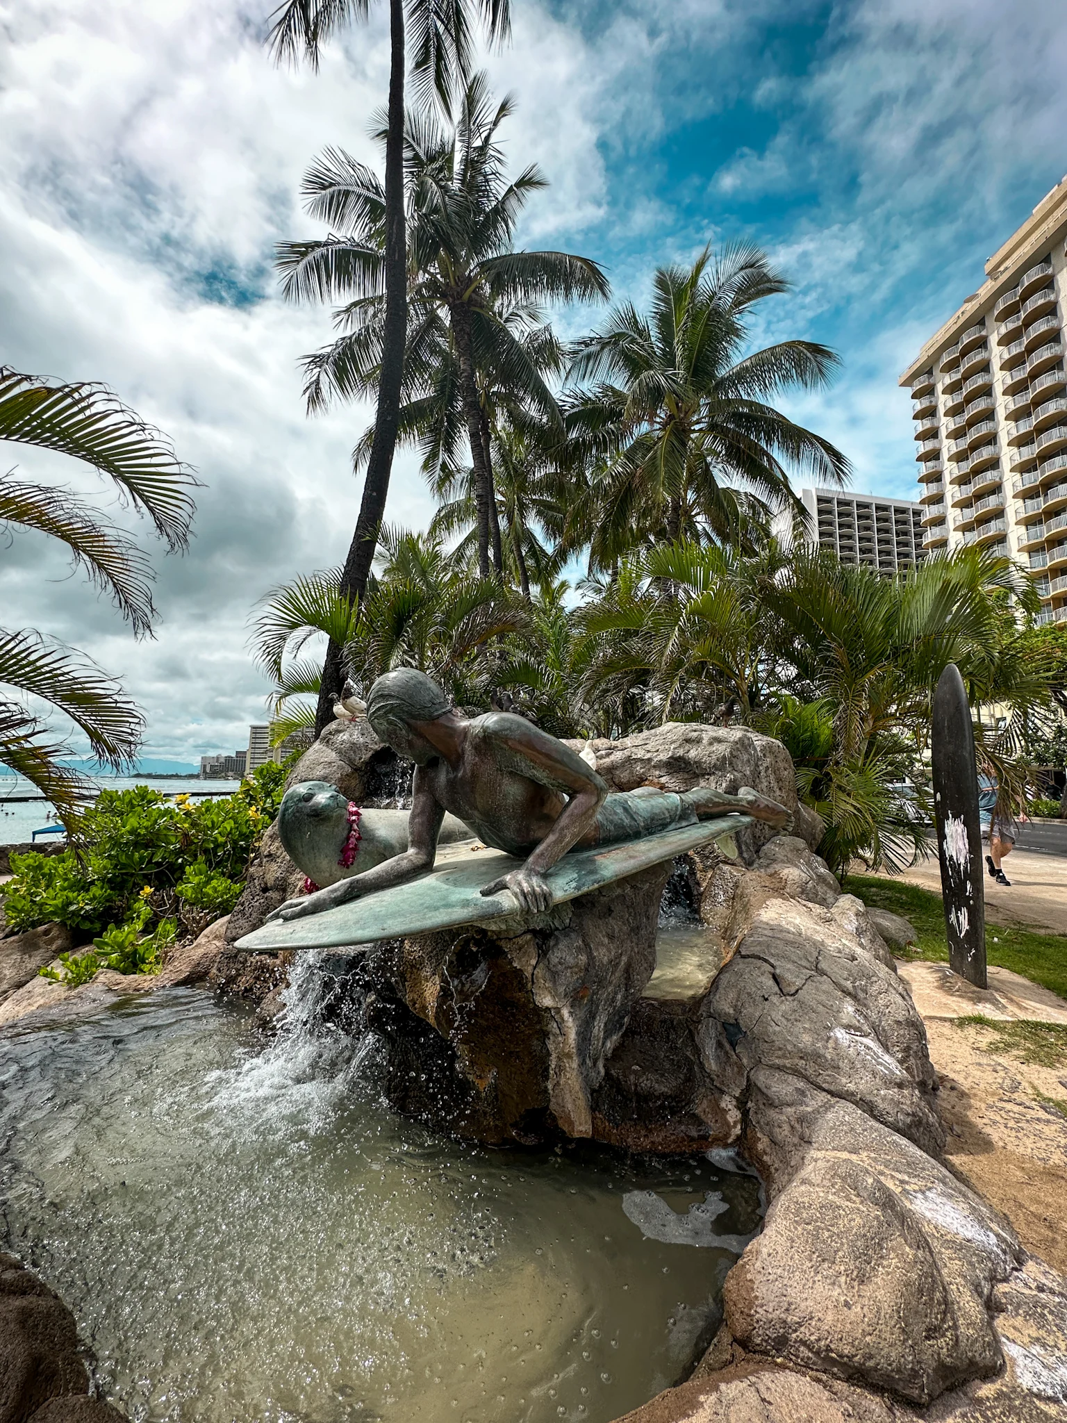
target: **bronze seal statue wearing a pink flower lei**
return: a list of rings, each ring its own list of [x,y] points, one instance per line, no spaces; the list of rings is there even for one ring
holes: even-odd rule
[[[356,820],[350,807],[347,795],[329,781],[302,781],[285,793],[277,811],[285,852],[323,889],[408,848],[405,810],[360,810]],[[353,824],[359,838],[353,838]],[[461,820],[445,815],[438,842],[451,845],[457,840],[474,837]],[[347,865],[346,847],[356,850]]]

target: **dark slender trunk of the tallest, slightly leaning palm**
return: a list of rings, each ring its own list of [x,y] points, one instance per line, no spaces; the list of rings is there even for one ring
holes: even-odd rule
[[[400,393],[407,343],[407,233],[404,231],[404,0],[390,0],[388,137],[386,138],[386,327],[381,342],[378,408],[363,481],[356,532],[341,573],[341,593],[361,599],[367,591],[378,532],[386,514],[393,451],[397,447]],[[333,697],[344,684],[343,649],[330,642],[323,662],[314,734],[333,720]]]

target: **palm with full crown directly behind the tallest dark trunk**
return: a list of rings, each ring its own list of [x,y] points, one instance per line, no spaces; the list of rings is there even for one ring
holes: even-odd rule
[[[488,403],[494,390],[561,421],[545,383],[551,334],[538,332],[538,303],[603,299],[607,282],[588,258],[566,252],[511,249],[518,215],[545,186],[536,168],[514,181],[504,176],[497,131],[512,112],[495,108],[484,75],[467,85],[454,131],[427,115],[408,120],[410,339],[403,384],[408,404],[398,413],[403,435],[424,443],[424,457],[440,460],[465,430],[475,471],[478,566],[489,572],[492,470]],[[306,360],[310,408],[330,396],[366,394],[383,369],[387,303],[370,283],[378,263],[383,195],[373,174],[344,154],[327,152],[307,174],[309,211],[347,229],[347,243],[286,243],[279,249],[283,290],[290,297],[351,300],[337,312],[347,327],[327,349]],[[377,441],[377,423],[359,455]],[[357,455],[357,457],[359,457]],[[499,556],[499,548],[494,552]],[[499,564],[498,564],[499,569]]]

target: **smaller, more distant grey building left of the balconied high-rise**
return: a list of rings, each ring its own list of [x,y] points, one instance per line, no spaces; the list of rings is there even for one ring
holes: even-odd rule
[[[895,573],[925,556],[920,504],[841,490],[801,490],[800,498],[811,515],[804,542],[829,549],[842,564],[869,564]],[[778,515],[774,531],[782,542],[790,541],[788,512]]]

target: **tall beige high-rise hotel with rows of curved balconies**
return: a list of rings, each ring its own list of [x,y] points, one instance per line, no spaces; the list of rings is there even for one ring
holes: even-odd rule
[[[901,376],[912,393],[923,546],[1030,568],[1067,622],[1067,178],[986,262],[986,282]]]

